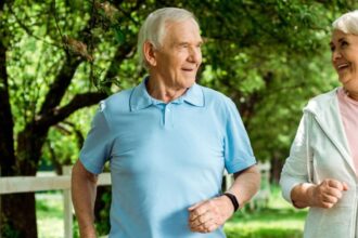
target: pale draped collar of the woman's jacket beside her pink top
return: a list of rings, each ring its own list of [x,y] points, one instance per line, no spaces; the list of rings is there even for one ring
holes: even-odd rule
[[[315,116],[315,119],[322,131],[332,141],[341,155],[355,171],[354,161],[349,153],[350,150],[347,137],[341,118],[338,98],[336,94],[337,89],[322,94],[311,100],[304,110],[309,111]]]

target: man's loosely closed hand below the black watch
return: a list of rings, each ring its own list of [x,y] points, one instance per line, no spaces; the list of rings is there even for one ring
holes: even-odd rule
[[[201,201],[189,209],[189,226],[192,232],[212,233],[233,214],[233,204],[226,196]]]

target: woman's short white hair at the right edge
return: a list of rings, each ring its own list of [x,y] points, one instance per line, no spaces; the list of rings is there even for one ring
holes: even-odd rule
[[[332,26],[335,30],[358,35],[358,10],[343,14],[333,22]]]

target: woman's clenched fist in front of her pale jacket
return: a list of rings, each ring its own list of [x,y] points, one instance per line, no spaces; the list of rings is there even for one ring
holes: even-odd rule
[[[329,209],[341,200],[343,191],[348,190],[348,186],[344,182],[328,178],[308,189],[311,207]]]

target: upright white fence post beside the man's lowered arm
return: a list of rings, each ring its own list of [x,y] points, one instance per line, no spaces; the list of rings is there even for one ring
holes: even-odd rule
[[[63,175],[71,175],[72,167],[64,166],[62,168]],[[69,181],[71,184],[71,181]],[[73,206],[71,198],[71,186],[63,190],[63,210],[64,210],[64,237],[73,238]]]

